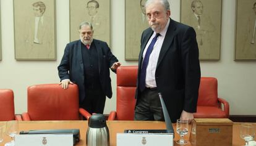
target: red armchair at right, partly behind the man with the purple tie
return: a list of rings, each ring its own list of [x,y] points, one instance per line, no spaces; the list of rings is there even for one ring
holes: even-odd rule
[[[229,103],[218,98],[218,81],[212,77],[202,77],[199,87],[197,113],[194,118],[228,118]]]

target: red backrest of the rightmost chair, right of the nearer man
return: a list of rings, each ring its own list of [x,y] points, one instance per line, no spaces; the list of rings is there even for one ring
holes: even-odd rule
[[[216,78],[201,78],[197,106],[218,107],[218,81]]]

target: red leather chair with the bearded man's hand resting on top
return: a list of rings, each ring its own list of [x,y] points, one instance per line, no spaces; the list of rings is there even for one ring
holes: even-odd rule
[[[79,89],[69,84],[62,89],[59,84],[38,84],[27,89],[27,113],[22,114],[24,121],[36,120],[80,120],[90,118],[83,108],[79,108]],[[80,114],[82,116],[80,116]]]

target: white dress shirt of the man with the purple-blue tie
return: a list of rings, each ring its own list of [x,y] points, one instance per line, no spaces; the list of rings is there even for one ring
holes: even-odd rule
[[[146,80],[145,80],[146,87],[156,87],[156,79],[155,79],[156,65],[158,62],[158,57],[161,51],[161,47],[163,45],[164,37],[168,29],[169,23],[170,23],[170,20],[168,20],[166,26],[164,27],[164,30],[160,32],[160,36],[158,36],[156,43],[153,47],[153,51],[150,54],[150,58],[148,60],[147,73],[146,73]],[[148,43],[143,51],[143,59],[147,52],[148,46],[150,45],[155,35],[156,33],[154,32],[151,38],[148,40]]]

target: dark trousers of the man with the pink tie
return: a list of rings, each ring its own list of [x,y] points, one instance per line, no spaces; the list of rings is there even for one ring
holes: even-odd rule
[[[106,95],[101,89],[87,89],[85,99],[80,103],[80,107],[92,113],[103,113],[105,107]]]

